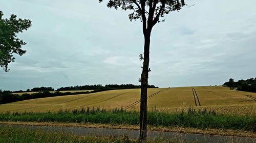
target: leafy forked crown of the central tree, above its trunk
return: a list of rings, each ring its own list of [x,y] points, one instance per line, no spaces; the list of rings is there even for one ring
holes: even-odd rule
[[[99,0],[101,3],[103,0]],[[143,33],[145,30],[152,30],[153,26],[164,19],[165,14],[172,11],[179,11],[186,4],[184,0],[109,0],[106,4],[109,8],[132,10],[129,14],[131,21],[140,19],[143,22]]]

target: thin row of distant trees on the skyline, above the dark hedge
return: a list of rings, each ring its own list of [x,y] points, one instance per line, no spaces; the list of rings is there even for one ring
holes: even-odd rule
[[[158,88],[155,87],[155,85],[148,85],[148,88]],[[105,86],[102,86],[101,84],[95,84],[95,85],[82,85],[75,87],[61,87],[57,89],[57,91],[80,91],[80,90],[118,90],[118,89],[140,89],[140,85],[134,85],[134,84],[106,84]],[[27,91],[14,91],[12,93],[22,93],[22,92],[46,92],[46,91],[54,91],[51,87],[40,87],[40,88],[33,88],[33,89],[27,89]]]

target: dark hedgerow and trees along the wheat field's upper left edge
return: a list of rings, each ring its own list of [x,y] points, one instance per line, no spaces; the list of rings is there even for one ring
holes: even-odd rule
[[[50,91],[41,91],[41,90],[51,90],[52,88],[34,88],[34,89],[40,89],[40,91],[37,91],[37,93],[33,93],[33,94],[22,94],[22,95],[18,95],[18,94],[13,94],[14,92],[11,91],[1,91],[0,90],[0,104],[5,104],[5,103],[11,103],[11,102],[16,102],[16,101],[22,101],[22,100],[28,100],[28,99],[36,99],[36,98],[45,98],[45,97],[54,97],[54,96],[65,96],[65,95],[76,95],[76,94],[89,94],[89,93],[96,93],[96,92],[101,92],[101,91],[108,91],[108,90],[119,90],[119,89],[138,89],[138,87],[140,88],[139,85],[133,85],[133,84],[121,84],[121,85],[117,85],[117,84],[109,84],[109,85],[105,85],[104,87],[99,85],[84,85],[84,86],[76,86],[76,87],[98,87],[98,89],[94,89],[93,91],[87,91],[87,92],[50,92]],[[100,87],[100,88],[99,88]],[[155,87],[154,85],[149,85],[149,88],[158,88]],[[91,89],[85,89],[85,88],[71,88],[71,87],[66,87],[66,88],[62,88],[62,89],[66,89],[69,91],[73,90],[91,90]],[[62,90],[62,91],[66,91],[66,90]]]

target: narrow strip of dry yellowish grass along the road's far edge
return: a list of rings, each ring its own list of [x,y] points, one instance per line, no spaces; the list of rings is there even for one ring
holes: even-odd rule
[[[93,123],[0,122],[0,124],[139,130],[139,126],[135,126],[135,125],[109,125],[109,124],[93,124]],[[223,130],[223,129],[204,129],[204,130],[202,130],[202,129],[196,129],[196,128],[154,127],[154,126],[148,126],[147,128],[150,131],[179,132],[179,133],[193,133],[193,134],[211,134],[211,135],[228,135],[228,136],[240,136],[240,137],[256,138],[256,133],[250,132],[250,131],[243,131],[243,130]]]

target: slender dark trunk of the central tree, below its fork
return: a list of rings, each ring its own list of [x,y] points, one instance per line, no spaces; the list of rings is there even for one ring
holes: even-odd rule
[[[146,141],[146,120],[147,120],[147,83],[148,66],[150,63],[150,35],[151,32],[144,33],[144,56],[141,73],[140,92],[140,142]]]

